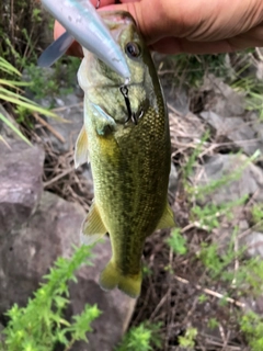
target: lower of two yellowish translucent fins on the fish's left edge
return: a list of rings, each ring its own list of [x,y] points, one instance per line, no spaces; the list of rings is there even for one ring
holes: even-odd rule
[[[88,216],[85,217],[80,234],[81,242],[84,245],[92,245],[98,241],[104,234],[106,228],[101,219],[100,213],[95,203],[90,207]]]

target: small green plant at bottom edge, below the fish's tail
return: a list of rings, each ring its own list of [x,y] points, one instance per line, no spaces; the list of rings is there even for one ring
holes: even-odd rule
[[[115,351],[151,351],[161,348],[160,333],[161,324],[141,324],[132,327],[124,336],[119,347]]]

